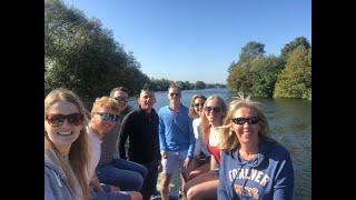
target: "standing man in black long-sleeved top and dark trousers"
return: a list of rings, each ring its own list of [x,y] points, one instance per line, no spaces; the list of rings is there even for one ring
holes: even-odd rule
[[[122,120],[120,130],[119,152],[127,159],[148,169],[141,193],[145,200],[156,191],[158,167],[160,164],[158,123],[159,118],[152,108],[156,98],[149,89],[142,89],[138,98],[138,108],[129,112]],[[125,143],[129,139],[128,152]]]

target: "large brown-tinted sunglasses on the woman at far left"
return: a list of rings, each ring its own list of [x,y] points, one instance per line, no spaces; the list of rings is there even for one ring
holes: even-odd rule
[[[71,114],[47,114],[44,116],[48,123],[52,127],[60,127],[63,124],[67,119],[68,123],[71,126],[79,126],[82,123],[83,116],[81,113],[71,113]]]

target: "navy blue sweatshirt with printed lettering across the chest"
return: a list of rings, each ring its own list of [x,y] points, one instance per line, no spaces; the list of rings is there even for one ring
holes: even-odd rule
[[[289,152],[260,139],[255,159],[241,160],[237,149],[221,154],[219,200],[293,199],[294,170]]]

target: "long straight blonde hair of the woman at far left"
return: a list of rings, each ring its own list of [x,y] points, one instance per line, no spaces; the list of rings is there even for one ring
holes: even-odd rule
[[[89,199],[89,182],[88,182],[88,166],[90,160],[90,149],[89,149],[89,139],[87,129],[85,126],[88,123],[87,110],[77,94],[72,91],[59,88],[52,90],[44,99],[44,114],[47,114],[50,108],[58,101],[63,100],[72,103],[83,116],[82,130],[78,139],[71,144],[69,150],[69,164],[62,158],[53,142],[49,139],[47,131],[44,130],[44,153],[58,164],[65,172],[68,178],[69,186],[72,191],[75,191],[75,179],[71,177],[71,170],[75,172],[75,176],[81,187],[82,194],[85,199]]]

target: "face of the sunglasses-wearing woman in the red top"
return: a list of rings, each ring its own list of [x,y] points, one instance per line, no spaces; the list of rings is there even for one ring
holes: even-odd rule
[[[207,100],[204,112],[209,123],[214,126],[220,126],[222,123],[224,112],[218,99]]]

